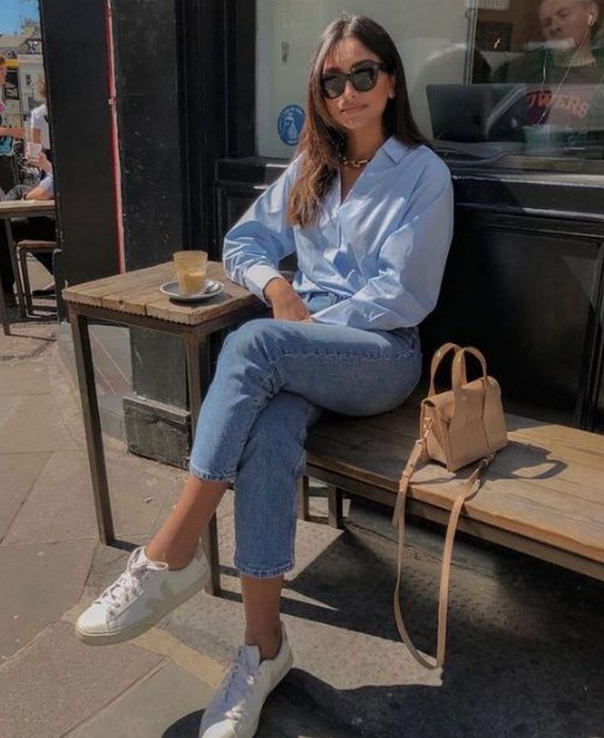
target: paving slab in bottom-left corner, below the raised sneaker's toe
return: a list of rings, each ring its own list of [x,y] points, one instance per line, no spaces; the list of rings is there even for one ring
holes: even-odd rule
[[[54,624],[0,666],[0,735],[63,736],[162,662],[130,644],[85,646],[70,624]]]

